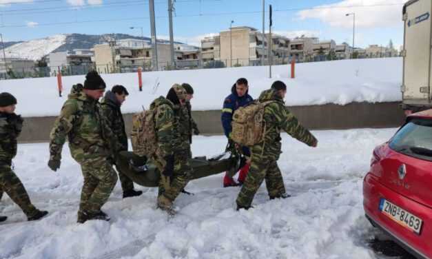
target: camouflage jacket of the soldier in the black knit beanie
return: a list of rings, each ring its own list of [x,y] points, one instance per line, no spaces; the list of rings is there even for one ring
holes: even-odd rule
[[[93,158],[112,158],[121,149],[106,118],[100,112],[99,101],[82,91],[83,85],[72,87],[50,134],[50,159],[61,159],[66,138],[72,157],[83,163]]]

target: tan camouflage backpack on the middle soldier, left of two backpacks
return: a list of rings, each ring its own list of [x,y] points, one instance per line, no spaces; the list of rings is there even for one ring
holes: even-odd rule
[[[132,150],[139,156],[148,158],[156,154],[156,130],[154,110],[144,110],[132,116],[132,132],[130,134]]]

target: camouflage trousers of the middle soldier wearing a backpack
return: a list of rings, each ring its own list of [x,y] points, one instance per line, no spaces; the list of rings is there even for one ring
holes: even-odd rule
[[[159,180],[158,195],[165,196],[172,202],[177,198],[178,194],[185,189],[192,175],[192,167],[189,164],[190,149],[183,149],[174,154],[174,174],[170,180],[169,189],[165,189],[163,180]]]

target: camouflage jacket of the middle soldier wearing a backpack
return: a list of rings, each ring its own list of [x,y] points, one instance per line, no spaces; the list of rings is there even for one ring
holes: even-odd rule
[[[157,153],[163,158],[174,154],[181,146],[181,138],[178,132],[178,112],[171,101],[160,96],[150,105],[154,110],[154,125],[157,137]]]

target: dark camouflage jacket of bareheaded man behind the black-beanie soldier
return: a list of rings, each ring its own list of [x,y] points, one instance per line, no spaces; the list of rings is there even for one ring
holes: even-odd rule
[[[107,123],[117,141],[121,143],[122,150],[127,150],[127,135],[125,131],[125,121],[123,121],[123,114],[121,114],[120,104],[116,100],[113,92],[107,91],[105,97],[101,100],[101,109],[103,116],[107,118]]]

